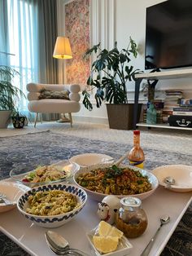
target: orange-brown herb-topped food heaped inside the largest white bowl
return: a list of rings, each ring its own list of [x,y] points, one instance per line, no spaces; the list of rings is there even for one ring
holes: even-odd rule
[[[90,170],[80,174],[76,182],[83,188],[107,195],[135,195],[152,189],[146,175],[129,167],[112,166]]]

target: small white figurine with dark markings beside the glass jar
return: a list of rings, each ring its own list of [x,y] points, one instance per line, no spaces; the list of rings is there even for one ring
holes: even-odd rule
[[[98,203],[98,217],[107,223],[113,224],[116,219],[116,212],[120,208],[120,199],[117,196],[109,195]]]

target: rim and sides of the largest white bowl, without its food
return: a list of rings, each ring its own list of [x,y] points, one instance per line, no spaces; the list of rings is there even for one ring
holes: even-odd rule
[[[76,183],[76,185],[80,186],[76,181],[77,177],[80,174],[87,173],[90,170],[94,170],[94,169],[98,169],[98,168],[105,168],[105,167],[109,167],[109,166],[111,166],[111,164],[98,164],[98,165],[94,165],[94,166],[87,166],[87,167],[81,168],[80,170],[76,171],[76,174],[73,177],[74,182]],[[125,167],[125,166],[122,166],[122,167]],[[140,168],[133,167],[133,166],[129,166],[129,169],[139,170],[141,174],[146,175],[148,177],[148,180],[151,183],[151,187],[152,187],[152,189],[148,192],[144,192],[144,193],[141,193],[141,194],[135,194],[135,195],[131,195],[131,196],[135,196],[137,198],[140,198],[141,200],[146,199],[146,197],[148,197],[148,196],[151,196],[151,194],[153,194],[155,192],[155,189],[158,188],[158,186],[159,186],[158,179],[155,177],[155,175],[151,174],[151,172],[149,172],[147,170],[142,170]],[[81,187],[81,188],[83,188],[83,187]],[[83,188],[83,189],[85,189],[85,192],[87,192],[88,196],[90,198],[94,199],[95,201],[103,201],[103,198],[105,196],[107,196],[107,194],[103,194],[103,193],[99,193],[99,192],[93,192],[93,191],[91,191],[87,188]],[[122,195],[122,196],[121,195],[120,196],[116,195],[116,196],[119,197],[119,198],[123,198],[125,196],[130,196],[130,195]]]

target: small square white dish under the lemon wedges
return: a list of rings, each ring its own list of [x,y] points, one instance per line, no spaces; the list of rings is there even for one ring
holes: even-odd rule
[[[129,255],[131,253],[131,250],[133,249],[133,245],[131,245],[129,243],[129,240],[125,236],[122,236],[116,251],[108,253],[108,254],[100,254],[98,252],[98,250],[94,247],[94,243],[93,243],[93,236],[95,236],[95,234],[97,234],[97,230],[98,230],[98,226],[95,227],[94,229],[92,229],[90,232],[86,233],[89,244],[94,249],[94,254],[96,254],[97,256],[101,256],[101,255],[124,256],[124,255]]]

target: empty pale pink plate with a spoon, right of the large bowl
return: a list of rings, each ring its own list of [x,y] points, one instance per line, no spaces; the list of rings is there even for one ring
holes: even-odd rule
[[[192,191],[192,166],[184,165],[168,165],[159,166],[152,170],[157,179],[159,179],[159,184],[166,187],[164,179],[171,176],[175,179],[176,183],[168,188],[175,192],[190,192]]]

